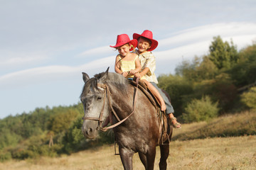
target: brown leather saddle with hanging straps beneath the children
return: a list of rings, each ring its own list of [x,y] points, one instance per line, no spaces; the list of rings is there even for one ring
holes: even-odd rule
[[[130,84],[132,84],[132,86],[137,86],[137,82],[134,80],[129,80]],[[159,123],[160,123],[160,128],[159,128],[159,145],[164,145],[164,137],[166,137],[169,140],[169,135],[167,133],[167,128],[168,127],[168,122],[167,126],[164,123],[164,119],[167,119],[167,116],[165,114],[165,112],[161,111],[161,105],[159,103],[159,101],[157,100],[156,96],[154,96],[154,94],[150,91],[150,89],[146,86],[146,84],[144,83],[144,81],[139,80],[139,84],[138,84],[138,89],[140,89],[145,96],[149,99],[149,101],[151,102],[151,104],[154,106],[154,108],[156,108],[156,113],[157,113],[157,117],[159,118]],[[169,140],[170,143],[170,140]],[[169,145],[169,144],[168,144]]]

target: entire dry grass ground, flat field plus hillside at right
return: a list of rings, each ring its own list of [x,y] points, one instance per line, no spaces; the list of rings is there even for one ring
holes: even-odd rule
[[[208,123],[183,124],[174,130],[167,169],[255,169],[255,112],[226,115]],[[236,132],[236,133],[235,133]],[[245,133],[247,135],[236,136]],[[216,137],[213,137],[216,136]],[[194,137],[194,139],[193,139]],[[210,138],[211,137],[211,138]],[[190,139],[190,140],[188,140]],[[155,169],[159,169],[159,147],[156,148]],[[144,169],[138,154],[134,154],[134,169]],[[105,145],[69,156],[41,157],[0,163],[0,170],[82,170],[123,169],[114,145]]]

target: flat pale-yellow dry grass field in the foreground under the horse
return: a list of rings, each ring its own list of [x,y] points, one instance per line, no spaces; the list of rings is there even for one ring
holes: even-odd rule
[[[178,130],[175,130],[175,132]],[[216,137],[204,140],[171,142],[168,169],[255,169],[256,136]],[[155,169],[158,168],[157,147]],[[134,155],[134,169],[144,169],[138,154]],[[123,169],[114,147],[78,152],[70,156],[0,163],[1,170],[87,170]]]

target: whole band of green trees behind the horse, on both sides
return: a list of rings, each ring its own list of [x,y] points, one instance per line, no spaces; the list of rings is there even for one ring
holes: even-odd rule
[[[210,120],[225,113],[256,108],[256,44],[238,51],[231,42],[214,37],[208,55],[183,60],[175,74],[158,77],[171,96],[176,117],[183,123]],[[82,88],[82,87],[81,87]],[[0,161],[56,157],[114,142],[112,132],[86,140],[81,103],[36,108],[0,120]]]

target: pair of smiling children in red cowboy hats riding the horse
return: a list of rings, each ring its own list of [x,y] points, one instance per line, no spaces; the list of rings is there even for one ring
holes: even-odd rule
[[[181,124],[177,122],[173,115],[174,108],[171,106],[169,99],[156,85],[158,84],[154,74],[156,60],[151,51],[157,47],[158,42],[153,39],[153,33],[150,30],[144,30],[141,35],[134,33],[133,38],[133,40],[130,40],[127,34],[117,35],[116,45],[110,45],[110,47],[116,48],[119,52],[116,57],[114,71],[124,77],[139,77],[144,81],[159,100],[161,111],[166,110],[166,114],[174,128],[181,128]],[[135,53],[131,53],[130,51],[134,50],[135,47],[138,49]]]

